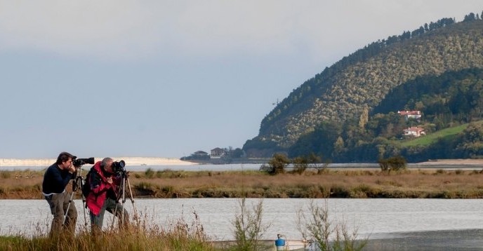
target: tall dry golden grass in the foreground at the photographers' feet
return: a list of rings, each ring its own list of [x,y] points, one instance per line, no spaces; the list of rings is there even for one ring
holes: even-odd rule
[[[194,221],[180,218],[166,227],[152,224],[152,219],[141,215],[125,229],[108,229],[93,234],[81,229],[75,235],[61,234],[48,237],[48,231],[38,224],[35,236],[12,234],[0,236],[0,250],[216,250],[204,233],[194,213]]]

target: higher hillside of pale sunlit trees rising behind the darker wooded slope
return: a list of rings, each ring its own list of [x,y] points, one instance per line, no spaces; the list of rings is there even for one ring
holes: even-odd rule
[[[312,142],[318,140],[319,144],[338,142],[335,148],[333,145],[324,144],[322,148],[327,151],[317,151],[326,155],[330,149],[339,149],[340,153],[346,154],[343,156],[345,161],[351,159],[350,155],[356,161],[359,154],[352,147],[348,149],[348,142],[343,141],[344,137],[340,136],[348,133],[348,128],[344,126],[354,126],[354,121],[358,121],[355,126],[359,130],[366,130],[364,120],[369,121],[369,116],[408,108],[404,107],[406,104],[411,109],[421,108],[417,106],[421,103],[416,104],[414,100],[412,103],[410,100],[384,101],[392,90],[404,86],[405,83],[413,84],[411,81],[424,76],[435,78],[446,72],[481,68],[483,21],[473,13],[467,15],[463,22],[456,23],[451,18],[443,18],[430,22],[429,25],[422,25],[413,32],[390,36],[344,57],[293,90],[263,118],[259,135],[246,142],[244,151],[248,156],[265,157],[276,151],[286,151],[291,155],[309,154],[301,150],[304,147],[300,147],[301,144],[309,144],[304,140],[308,138]],[[409,86],[411,84],[408,84],[408,88]],[[431,88],[439,90],[444,87],[439,88],[436,84]],[[427,91],[431,92],[432,89]],[[421,99],[429,99],[424,96],[425,93],[420,94]],[[397,96],[393,98],[397,99]],[[456,100],[459,98],[454,97],[451,102]],[[386,104],[393,105],[389,109]],[[397,107],[399,105],[402,107]],[[430,110],[425,112],[430,114]],[[477,111],[472,113],[472,117],[477,116]],[[323,133],[324,137],[315,140],[315,135],[321,136],[317,134],[320,130],[331,131],[332,134]],[[373,140],[374,138],[366,137],[361,144]],[[334,152],[330,154],[332,158],[340,157]]]

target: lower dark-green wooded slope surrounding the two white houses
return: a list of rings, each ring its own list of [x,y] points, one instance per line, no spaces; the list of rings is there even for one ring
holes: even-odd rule
[[[420,118],[398,113],[416,110]],[[483,156],[483,69],[421,76],[386,95],[372,114],[344,123],[323,122],[302,135],[287,153],[314,153],[331,162],[375,162],[401,155],[410,162]],[[421,137],[404,135],[421,128]]]

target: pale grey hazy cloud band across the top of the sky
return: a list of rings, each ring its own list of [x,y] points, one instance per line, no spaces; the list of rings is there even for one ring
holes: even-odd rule
[[[300,51],[321,57],[328,55],[326,48],[356,49],[384,39],[381,34],[435,21],[442,18],[441,8],[455,13],[445,2],[1,1],[0,49],[102,60]],[[473,2],[459,6],[467,13],[473,10],[465,6]]]

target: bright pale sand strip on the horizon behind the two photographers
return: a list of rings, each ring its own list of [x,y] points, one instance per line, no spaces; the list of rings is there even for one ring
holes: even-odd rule
[[[114,161],[124,160],[126,165],[192,165],[192,162],[180,161],[178,158],[158,157],[112,157]],[[55,163],[55,158],[0,158],[2,166],[48,166]],[[94,157],[101,161],[101,157]]]

